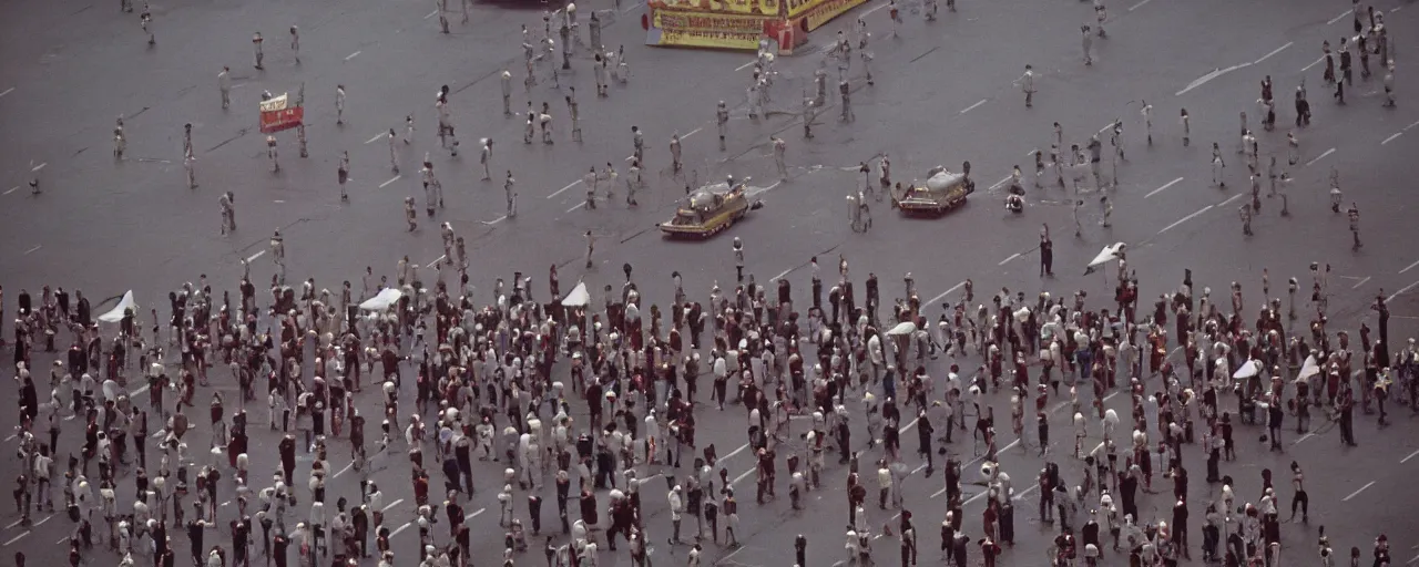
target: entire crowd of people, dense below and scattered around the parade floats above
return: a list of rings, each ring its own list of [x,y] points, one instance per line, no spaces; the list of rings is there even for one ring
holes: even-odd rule
[[[925,6],[927,18],[934,20],[935,1]],[[954,1],[946,6],[955,11]],[[1369,75],[1369,57],[1378,55],[1388,69],[1385,103],[1393,105],[1393,62],[1384,16],[1374,9],[1359,10],[1358,1],[1355,6],[1362,79]],[[132,10],[128,4],[123,9]],[[464,3],[465,23],[467,9]],[[448,33],[446,1],[438,3],[437,13],[441,30]],[[1093,64],[1094,38],[1107,37],[1107,11],[1098,0],[1095,13],[1097,26],[1083,28],[1086,65]],[[570,64],[573,45],[595,51],[597,96],[606,96],[613,82],[627,81],[624,51],[606,51],[600,41],[600,17],[592,14],[589,40],[582,40],[575,14],[572,6],[545,14],[542,38],[524,28],[528,91],[538,84],[539,68],[556,60],[553,27],[561,34],[563,68]],[[895,34],[901,23],[895,3],[890,14]],[[155,44],[146,3],[140,21],[149,44]],[[289,31],[291,50],[298,54],[298,30]],[[856,34],[856,48],[839,33],[830,52],[840,65],[843,122],[854,119],[849,77],[854,52],[867,84],[873,84],[870,34],[861,18]],[[253,44],[254,67],[263,69],[260,34]],[[1349,50],[1349,40],[1342,38],[1337,75],[1331,47],[1325,45],[1325,82],[1335,86],[1340,103],[1352,82]],[[751,118],[768,116],[773,65],[775,57],[765,45],[753,62]],[[559,81],[555,68],[549,77]],[[512,115],[512,74],[504,71],[499,78],[504,112]],[[1032,67],[1026,67],[1019,85],[1032,108],[1037,94]],[[227,108],[231,84],[226,68],[219,86]],[[827,105],[826,65],[815,72],[813,89],[816,95],[803,101],[806,139],[812,137],[816,113]],[[1271,89],[1267,77],[1260,99],[1266,129],[1276,122]],[[455,155],[448,95],[444,86],[436,101],[437,135],[441,147]],[[1304,84],[1296,98],[1296,123],[1304,128],[1310,122]],[[335,105],[343,122],[343,85]],[[580,140],[575,89],[566,95],[566,105],[568,130]],[[1149,143],[1151,111],[1144,103]],[[538,136],[542,143],[553,143],[551,113],[546,102],[541,111],[528,102],[525,143]],[[1181,116],[1188,145],[1186,109]],[[728,109],[719,102],[715,122],[721,150],[728,120]],[[1067,167],[1076,187],[1090,173],[1103,187],[1098,135],[1083,149],[1073,145],[1066,156],[1059,123],[1054,128],[1047,162],[1044,153],[1034,153],[1036,184],[1053,177],[1063,186]],[[187,184],[196,189],[192,126],[184,130],[183,163]],[[304,157],[304,128],[298,135]],[[413,135],[412,116],[403,137],[396,137],[394,129],[387,133],[394,173],[396,140],[409,143]],[[644,137],[639,128],[631,129],[631,136],[634,155],[626,189],[627,204],[636,206],[636,190],[643,186]],[[1124,159],[1121,136],[1122,122],[1117,120],[1111,135],[1115,169]],[[788,179],[786,143],[773,136],[769,145],[779,177]],[[1243,113],[1239,152],[1252,172],[1252,200],[1240,210],[1246,234],[1252,232],[1252,214],[1260,208],[1261,180],[1270,179],[1271,193],[1283,198],[1284,191],[1277,193],[1276,186],[1290,180],[1287,173],[1279,173],[1274,157],[1263,167],[1257,146]],[[274,137],[267,137],[267,147],[272,170],[280,170]],[[1298,162],[1297,147],[1293,132],[1290,166]],[[125,149],[119,119],[115,157],[123,159]],[[492,140],[480,140],[480,150],[482,179],[491,180]],[[670,155],[671,170],[678,173],[678,133],[671,136]],[[1223,184],[1225,163],[1216,143],[1212,156],[1215,181]],[[342,198],[348,198],[349,167],[348,153],[342,153]],[[1047,167],[1053,167],[1053,176]],[[877,190],[887,191],[891,173],[885,155],[877,159],[876,170]],[[868,196],[877,196],[871,172],[864,162],[864,187],[857,196],[863,207]],[[426,214],[433,217],[443,208],[443,191],[427,155],[420,173]],[[596,208],[597,198],[616,187],[616,177],[610,163],[603,170],[590,167],[586,208]],[[1020,186],[1016,167],[1012,187]],[[38,177],[31,187],[38,190]],[[511,170],[504,190],[511,218],[517,214]],[[1337,213],[1340,194],[1338,174],[1332,174]],[[233,232],[236,197],[223,193],[220,200],[221,231]],[[413,231],[417,207],[413,197],[403,204]],[[1076,201],[1076,234],[1081,230],[1081,204]],[[1107,197],[1104,204],[1107,225]],[[1358,207],[1352,204],[1347,213],[1358,248]],[[867,227],[870,220],[863,230]],[[729,408],[742,411],[748,422],[755,506],[768,506],[782,488],[792,509],[802,510],[813,506],[809,492],[843,488],[847,530],[841,560],[810,563],[807,537],[797,536],[793,549],[799,567],[829,561],[874,564],[873,543],[881,537],[900,543],[902,566],[917,564],[917,523],[925,519],[911,512],[914,503],[907,502],[904,486],[922,469],[925,476],[934,475],[938,455],[944,456],[939,469],[949,509],[941,522],[939,549],[942,558],[958,567],[972,564],[971,557],[988,567],[1009,557],[1002,546],[1016,539],[1015,503],[1032,492],[1012,485],[1012,472],[1037,483],[1039,519],[1051,524],[1050,560],[1057,564],[1073,564],[1076,558],[1110,563],[1112,553],[1127,556],[1130,564],[1175,566],[1196,551],[1203,560],[1226,566],[1277,566],[1281,493],[1290,495],[1291,517],[1300,512],[1301,520],[1308,520],[1303,466],[1291,462],[1288,490],[1279,490],[1273,472],[1264,469],[1260,493],[1237,493],[1227,473],[1236,472],[1227,469],[1237,458],[1237,430],[1264,427],[1269,448],[1279,451],[1287,418],[1298,435],[1307,435],[1317,414],[1338,425],[1341,444],[1355,445],[1357,410],[1378,414],[1381,425],[1388,422],[1391,395],[1419,410],[1419,349],[1409,340],[1406,347],[1391,350],[1382,293],[1374,303],[1376,329],[1361,326],[1357,336],[1334,329],[1327,318],[1328,266],[1313,266],[1310,299],[1297,299],[1301,285],[1290,279],[1284,305],[1280,293],[1271,293],[1269,279],[1261,282],[1261,301],[1250,308],[1236,282],[1226,292],[1229,302],[1215,301],[1210,288],[1195,288],[1191,271],[1148,305],[1124,255],[1112,279],[1112,302],[1098,302],[1083,291],[1027,298],[1000,289],[978,296],[966,281],[959,296],[932,306],[922,303],[910,274],[894,293],[876,274],[863,278],[851,272],[847,258],[839,258],[829,274],[822,274],[813,258],[806,292],[788,279],[758,284],[745,271],[736,240],[732,288],[714,285],[708,296],[701,296],[687,291],[677,274],[674,295],[651,301],[641,296],[626,265],[620,289],[607,286],[597,306],[592,301],[563,302],[568,289],[556,266],[543,282],[518,272],[511,285],[498,279],[492,293],[478,292],[470,278],[464,238],[448,223],[440,224],[440,234],[444,257],[437,268],[421,268],[404,257],[393,276],[376,276],[373,268],[366,268],[358,291],[349,281],[335,292],[314,279],[287,285],[280,232],[268,249],[275,274],[265,292],[258,292],[251,266],[245,265],[236,289],[214,289],[203,276],[169,295],[167,313],[128,309],[101,320],[78,291],[72,298],[62,288],[44,286],[38,296],[21,291],[13,342],[7,344],[14,353],[18,394],[16,439],[21,466],[13,493],[21,523],[48,522],[34,517],[45,510],[62,513],[72,523],[67,543],[72,566],[116,557],[119,566],[146,560],[170,567],[176,563],[170,530],[182,530],[193,563],[207,567],[250,566],[253,560],[284,567],[292,556],[302,566],[331,561],[348,567],[377,558],[380,567],[393,567],[414,564],[416,557],[421,567],[495,560],[512,566],[534,561],[522,557],[535,547],[541,547],[548,566],[595,567],[604,557],[619,556],[619,544],[633,564],[648,566],[656,537],[666,537],[671,549],[685,549],[684,561],[698,567],[711,563],[715,549],[732,549],[741,537],[751,537],[739,532],[741,513],[751,515],[753,507],[741,512],[734,488],[738,479],[731,481],[714,444],[697,439],[697,420]],[[586,237],[590,266],[595,237]],[[1040,272],[1051,274],[1047,230],[1040,249]],[[535,286],[546,296],[534,293]],[[891,298],[885,306],[884,293]],[[0,295],[0,320],[3,308]],[[948,369],[934,363],[939,357],[946,359]],[[403,383],[403,377],[412,383]],[[698,391],[701,380],[708,380],[705,394]],[[236,400],[228,400],[223,391],[233,387]],[[372,394],[366,395],[366,388]],[[1105,405],[1120,393],[1125,394],[1127,421],[1121,411]],[[146,407],[136,400],[140,395],[148,397]],[[375,398],[377,417],[359,410],[360,401],[369,398]],[[209,425],[190,417],[204,400]],[[1056,414],[1051,400],[1064,403],[1060,407],[1067,411]],[[1010,414],[1010,442],[1002,444],[1007,437],[996,431],[996,408]],[[806,420],[803,431],[793,431],[796,417]],[[1071,451],[1056,449],[1069,447],[1067,441],[1050,441],[1050,430],[1059,427],[1074,432]],[[61,434],[74,428],[82,428],[82,445],[61,449]],[[200,432],[193,435],[194,430]],[[901,438],[910,430],[918,435],[915,455],[901,451]],[[958,449],[966,442],[959,435],[966,434],[975,459],[965,459]],[[186,439],[193,438],[207,445],[190,448]],[[1091,448],[1086,439],[1100,442]],[[1037,473],[1005,471],[999,455],[1015,445],[1036,448],[1046,466]],[[1205,482],[1220,485],[1216,500],[1193,502],[1188,490],[1191,464],[1183,458],[1188,445],[1206,455]],[[267,462],[253,456],[260,448],[272,451],[274,466],[253,464]],[[155,451],[152,459],[149,449]],[[343,472],[336,472],[331,459],[346,452],[349,469],[360,475],[359,490],[343,493],[332,486],[328,493],[326,483]],[[298,459],[299,454],[309,455],[308,465]],[[830,466],[829,454],[836,455],[839,466]],[[404,499],[386,496],[373,475],[402,458],[410,466],[412,502],[400,507]],[[910,464],[914,458],[922,461],[921,466]],[[975,462],[982,464],[979,479],[965,471]],[[876,482],[861,475],[876,476]],[[643,509],[643,496],[660,498],[650,485],[657,476],[664,476],[668,509],[667,517],[658,519]],[[1172,483],[1171,516],[1139,513],[1139,490],[1154,493],[1155,479]],[[556,519],[543,524],[542,489],[548,483],[555,490]],[[873,483],[878,510],[895,510],[887,523],[874,523],[867,512]],[[978,519],[966,513],[966,505],[978,499],[962,489],[969,483],[985,486]],[[480,488],[495,493],[498,524],[504,529],[501,544],[490,543],[497,537],[480,536],[470,526],[477,515],[465,513],[465,506]],[[132,493],[132,500],[121,493]],[[223,500],[233,502],[234,509],[220,505]],[[328,503],[333,509],[326,509]],[[392,513],[413,520],[386,523]],[[692,527],[687,515],[694,519]],[[417,544],[396,547],[393,537],[409,526],[417,529]],[[207,540],[213,530],[220,530],[217,541]],[[1200,532],[1200,544],[1189,537],[1193,532]],[[1376,566],[1388,564],[1385,534],[1349,544],[1352,564],[1362,546],[1369,547]],[[490,546],[502,549],[502,554],[475,557]],[[1318,553],[1323,564],[1347,554],[1331,549],[1324,529]],[[16,554],[18,566],[24,560],[23,551]]]

